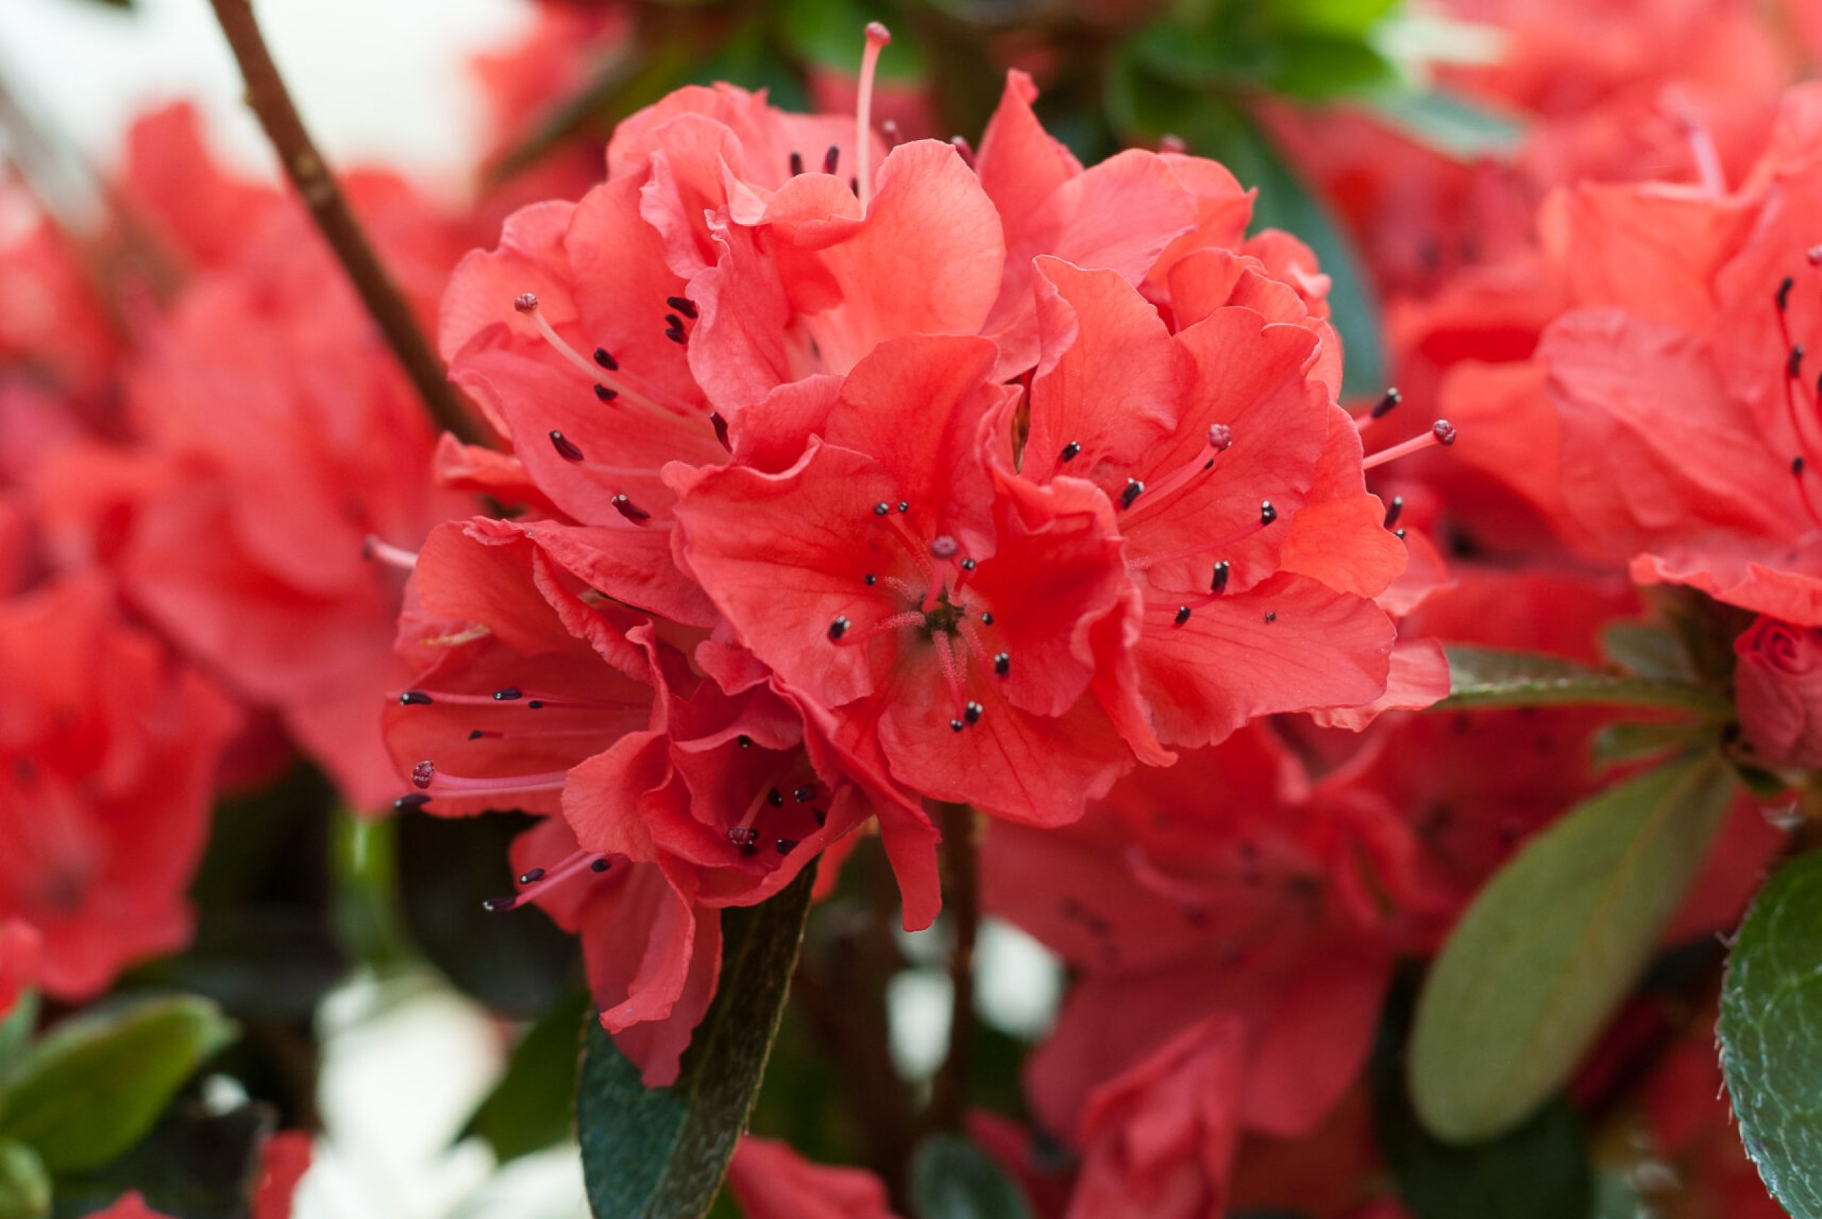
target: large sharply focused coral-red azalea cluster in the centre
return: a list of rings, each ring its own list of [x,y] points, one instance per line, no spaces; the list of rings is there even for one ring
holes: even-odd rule
[[[1387,695],[1405,548],[1314,258],[1248,240],[1215,162],[1084,169],[1033,96],[1015,73],[973,153],[889,147],[865,93],[683,89],[452,277],[443,351],[510,455],[439,457],[523,511],[417,557],[399,806],[552,817],[501,904],[581,930],[649,1083],[716,910],[853,831],[922,928],[926,802],[1064,826],[1261,715]]]

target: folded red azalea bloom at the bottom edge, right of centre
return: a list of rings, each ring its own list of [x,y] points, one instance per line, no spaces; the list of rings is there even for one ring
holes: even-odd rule
[[[1246,1026],[1217,1015],[1100,1084],[1082,1113],[1070,1219],[1226,1214],[1244,1077]]]

